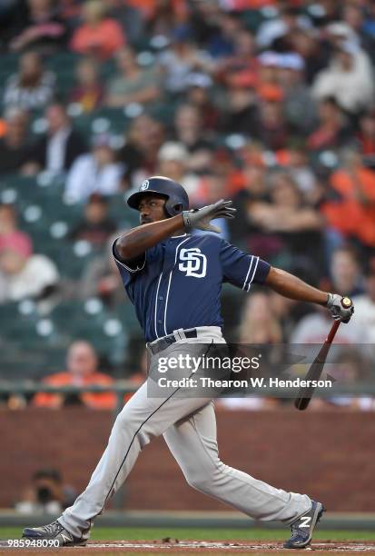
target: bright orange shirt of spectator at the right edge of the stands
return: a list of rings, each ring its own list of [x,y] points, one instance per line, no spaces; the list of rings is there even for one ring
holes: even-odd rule
[[[322,207],[328,223],[344,235],[358,237],[366,245],[375,247],[375,173],[367,168],[356,172],[358,185],[344,170],[335,172],[331,185],[341,196],[339,201],[331,201]],[[357,199],[357,187],[369,206]],[[371,206],[372,204],[372,206]]]

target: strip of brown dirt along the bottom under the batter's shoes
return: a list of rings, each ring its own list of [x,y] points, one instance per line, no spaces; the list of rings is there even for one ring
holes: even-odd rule
[[[6,541],[0,543],[0,554],[8,554],[21,552],[26,554],[43,553],[56,554],[60,549],[41,549],[41,548],[9,548]],[[281,542],[270,541],[178,541],[177,539],[166,538],[162,541],[90,541],[85,547],[65,548],[64,553],[73,553],[75,555],[83,554],[84,556],[118,556],[119,554],[152,554],[157,556],[174,555],[184,552],[191,554],[212,553],[214,556],[234,556],[238,553],[246,552],[247,554],[259,555],[274,554],[280,552],[288,556],[298,556],[304,554],[308,556],[311,552],[316,552],[317,556],[327,554],[329,556],[348,556],[349,554],[366,554],[375,556],[374,542],[358,542],[358,541],[317,541],[313,542],[310,547],[301,551],[290,551],[283,549]],[[60,552],[61,553],[61,552]]]

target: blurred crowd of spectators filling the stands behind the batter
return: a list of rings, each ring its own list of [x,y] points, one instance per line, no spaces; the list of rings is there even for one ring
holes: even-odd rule
[[[124,293],[108,204],[162,174],[193,207],[232,198],[238,215],[223,236],[352,296],[338,341],[374,343],[371,0],[5,0],[0,37],[0,64],[13,68],[1,93],[0,182],[62,176],[62,199],[82,210],[68,240],[102,250],[64,287],[62,268],[3,200],[0,303],[96,296],[115,306]],[[52,69],[61,55],[71,57]],[[95,114],[117,131],[84,133],[80,118]],[[321,343],[330,326],[321,309],[264,289],[240,303],[225,291],[223,303],[231,341]]]

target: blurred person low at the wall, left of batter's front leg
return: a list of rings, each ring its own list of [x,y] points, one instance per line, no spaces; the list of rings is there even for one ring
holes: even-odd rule
[[[77,491],[64,484],[58,470],[40,469],[33,474],[22,500],[15,503],[15,511],[25,514],[59,513],[74,503],[76,496]]]

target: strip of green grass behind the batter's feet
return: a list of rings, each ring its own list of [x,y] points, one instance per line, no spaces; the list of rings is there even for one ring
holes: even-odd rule
[[[0,540],[19,539],[22,528],[0,528]],[[194,539],[197,541],[284,541],[289,536],[288,529],[163,529],[129,527],[94,527],[91,539],[93,541],[153,541],[172,537],[180,541]],[[375,541],[375,531],[315,531],[314,540],[330,541]]]

